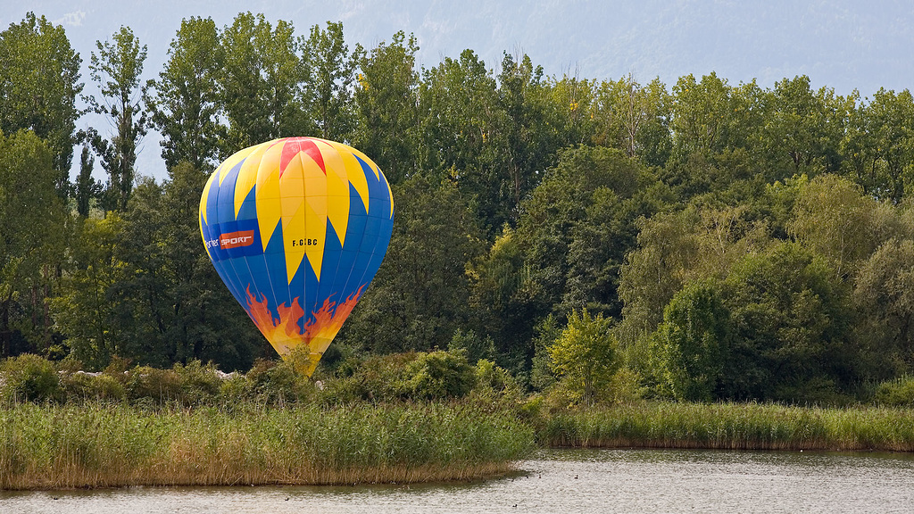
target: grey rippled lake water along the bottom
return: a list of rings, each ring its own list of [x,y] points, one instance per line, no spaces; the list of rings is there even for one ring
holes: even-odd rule
[[[0,512],[914,512],[909,454],[543,450],[521,468],[462,484],[0,491]]]

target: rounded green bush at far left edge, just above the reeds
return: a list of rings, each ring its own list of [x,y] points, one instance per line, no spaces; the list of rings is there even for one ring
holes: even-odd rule
[[[0,398],[9,401],[46,402],[62,399],[60,377],[48,359],[24,354],[0,364]]]

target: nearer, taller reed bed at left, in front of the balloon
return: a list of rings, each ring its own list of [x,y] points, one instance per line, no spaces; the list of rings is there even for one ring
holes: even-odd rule
[[[533,430],[462,404],[0,407],[0,489],[409,483],[515,468]]]

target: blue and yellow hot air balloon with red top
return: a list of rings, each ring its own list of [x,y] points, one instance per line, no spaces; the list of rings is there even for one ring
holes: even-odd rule
[[[377,273],[393,213],[388,181],[366,155],[289,137],[218,166],[200,198],[200,233],[263,336],[283,359],[306,356],[297,362],[310,377]]]

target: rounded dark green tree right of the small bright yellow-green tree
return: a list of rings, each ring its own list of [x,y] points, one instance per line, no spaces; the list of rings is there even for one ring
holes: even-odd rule
[[[716,284],[687,284],[676,293],[654,333],[653,371],[660,390],[685,402],[716,399],[727,360],[729,324]]]

